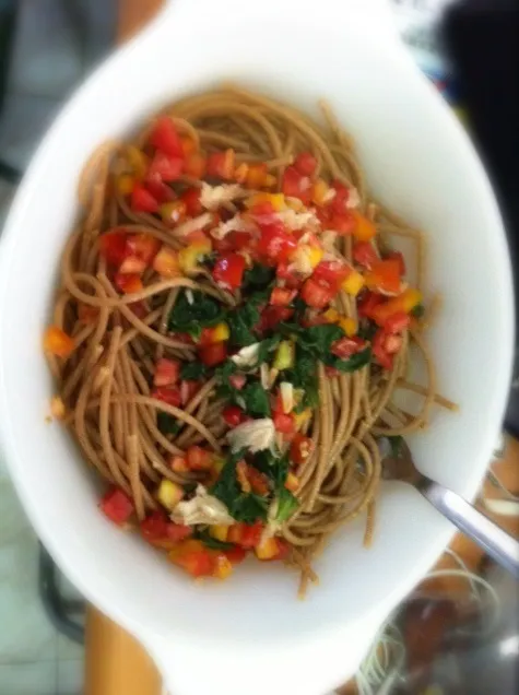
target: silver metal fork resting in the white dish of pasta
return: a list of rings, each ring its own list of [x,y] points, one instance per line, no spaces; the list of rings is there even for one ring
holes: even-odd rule
[[[519,542],[461,495],[421,473],[405,441],[402,440],[398,456],[384,457],[382,470],[386,480],[400,480],[416,487],[462,533],[519,579]]]

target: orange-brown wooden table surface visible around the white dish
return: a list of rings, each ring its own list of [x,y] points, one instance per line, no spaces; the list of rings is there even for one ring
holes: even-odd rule
[[[139,31],[162,3],[163,0],[119,0],[118,40],[123,42]],[[518,441],[507,440],[505,458],[494,464],[494,470],[509,490],[519,493]],[[486,484],[485,490],[488,496],[498,496],[491,485]],[[519,519],[500,517],[498,522],[519,535]],[[457,535],[451,546],[470,567],[477,566],[482,552],[471,541]],[[448,567],[452,559],[444,556],[438,566]],[[448,593],[459,588],[459,581],[438,579],[435,588]],[[85,695],[160,694],[160,675],[139,643],[91,606],[86,620]]]

